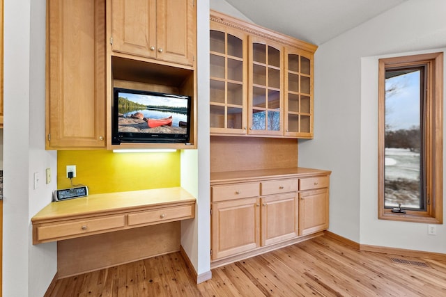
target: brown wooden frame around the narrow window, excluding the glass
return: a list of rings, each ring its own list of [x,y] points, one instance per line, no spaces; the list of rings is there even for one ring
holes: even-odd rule
[[[384,207],[385,70],[426,65],[426,117],[422,118],[426,145],[423,170],[426,210],[393,213]],[[443,224],[443,52],[378,60],[378,219]]]

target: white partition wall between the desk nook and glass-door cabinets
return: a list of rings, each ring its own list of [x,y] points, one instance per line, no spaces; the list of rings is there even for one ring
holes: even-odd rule
[[[210,276],[208,1],[197,1],[197,31],[198,150],[181,153],[181,186],[197,197],[197,209],[194,220],[181,222],[181,245],[199,278],[206,278]]]

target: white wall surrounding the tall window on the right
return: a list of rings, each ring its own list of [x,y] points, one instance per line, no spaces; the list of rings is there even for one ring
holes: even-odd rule
[[[330,231],[361,244],[446,253],[445,225],[428,236],[426,224],[377,219],[377,59],[445,47],[445,11],[443,0],[409,0],[316,51],[315,138],[300,141],[299,166],[332,170]]]

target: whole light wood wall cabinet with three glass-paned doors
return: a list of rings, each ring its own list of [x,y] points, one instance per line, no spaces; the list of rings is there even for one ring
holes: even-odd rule
[[[316,48],[211,11],[210,134],[312,138]]]

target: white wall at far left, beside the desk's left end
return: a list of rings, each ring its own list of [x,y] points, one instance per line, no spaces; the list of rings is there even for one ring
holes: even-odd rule
[[[32,245],[31,217],[51,202],[57,168],[45,151],[45,0],[5,1],[4,16],[3,296],[43,296],[56,244]]]

